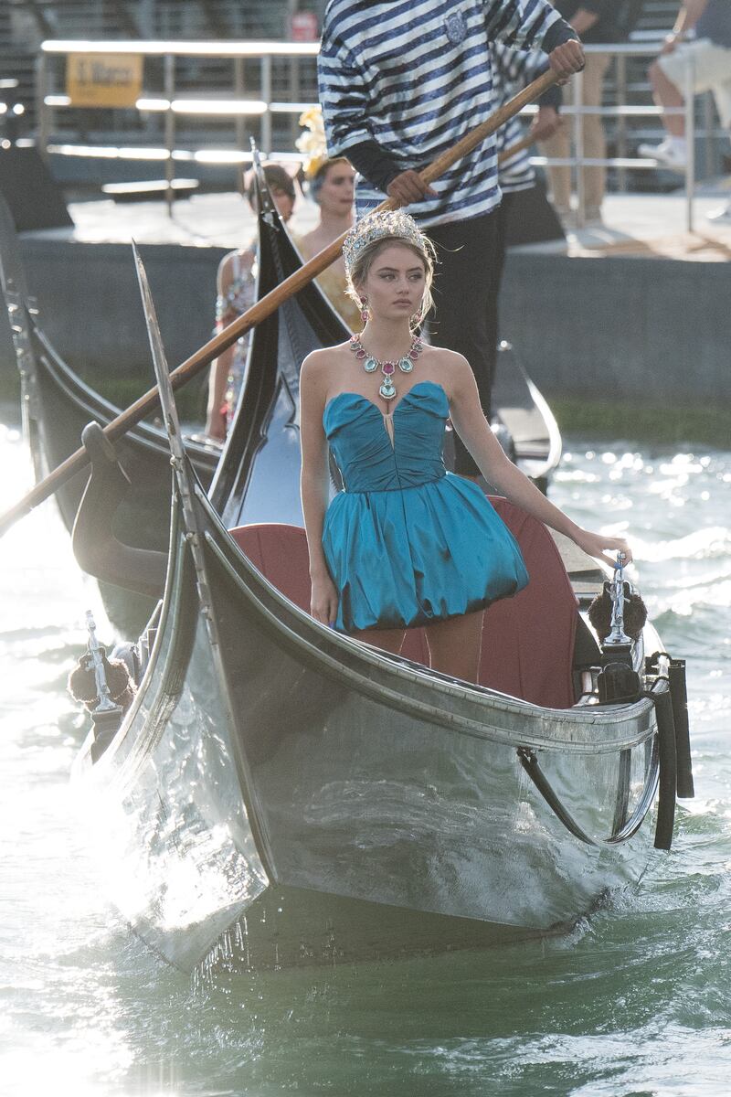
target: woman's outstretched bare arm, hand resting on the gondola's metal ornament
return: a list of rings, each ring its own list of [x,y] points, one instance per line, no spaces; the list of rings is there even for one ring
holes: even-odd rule
[[[477,384],[468,362],[461,354],[453,354],[450,358],[452,421],[488,483],[494,484],[511,502],[540,522],[558,533],[566,534],[590,556],[614,565],[614,558],[607,555],[605,550],[618,550],[627,554],[626,563],[629,563],[632,554],[623,538],[605,536],[576,525],[562,510],[549,502],[528,477],[505,456],[486,421]]]

